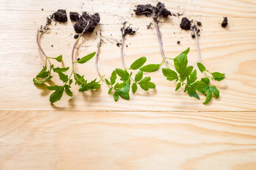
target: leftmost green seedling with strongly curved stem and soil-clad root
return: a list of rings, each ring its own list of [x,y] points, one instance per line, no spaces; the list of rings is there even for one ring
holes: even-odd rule
[[[43,48],[40,45],[39,42],[39,37],[40,34],[44,34],[45,31],[47,31],[48,26],[52,23],[52,20],[56,20],[59,22],[66,22],[67,21],[67,14],[65,10],[59,9],[57,12],[51,14],[49,17],[47,17],[47,22],[45,24],[45,26],[41,26],[41,29],[38,30],[38,34],[36,36],[36,42],[38,44],[38,47],[40,48],[40,50],[42,51],[42,53],[44,54],[45,59],[45,65],[44,68],[38,73],[38,75],[33,79],[33,82],[37,85],[41,85],[47,81],[49,81],[50,79],[52,79],[52,75],[51,75],[51,71],[53,69],[54,71],[54,66],[52,65],[50,59],[56,59],[58,62],[62,61],[62,55],[58,56],[58,57],[47,57],[47,55],[45,54]],[[47,71],[47,61],[49,62],[49,70]],[[41,80],[38,80],[41,79]]]

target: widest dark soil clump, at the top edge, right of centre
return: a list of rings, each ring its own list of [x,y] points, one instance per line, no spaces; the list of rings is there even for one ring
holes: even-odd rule
[[[154,21],[158,23],[159,17],[172,16],[171,12],[168,11],[163,3],[157,3],[157,6],[148,5],[137,5],[137,9],[134,9],[135,14],[145,15],[153,17]]]

